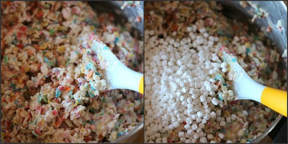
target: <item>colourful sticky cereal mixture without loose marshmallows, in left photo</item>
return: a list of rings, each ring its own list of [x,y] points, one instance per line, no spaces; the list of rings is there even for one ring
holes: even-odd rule
[[[142,121],[143,96],[109,91],[90,46],[143,70],[143,43],[111,14],[83,2],[1,2],[1,14],[3,142],[108,142]]]

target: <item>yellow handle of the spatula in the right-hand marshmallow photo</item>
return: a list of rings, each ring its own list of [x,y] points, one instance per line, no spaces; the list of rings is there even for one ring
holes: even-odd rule
[[[266,87],[261,95],[261,103],[287,117],[287,92]]]

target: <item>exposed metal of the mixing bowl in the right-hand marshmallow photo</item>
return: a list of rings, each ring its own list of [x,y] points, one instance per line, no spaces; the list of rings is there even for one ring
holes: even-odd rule
[[[219,2],[222,4],[224,11],[223,14],[228,17],[234,18],[238,21],[250,21],[253,16],[248,13],[248,9],[243,8],[239,2],[236,1],[225,1]],[[254,24],[251,23],[251,26],[256,27],[267,27],[270,26],[272,31],[269,33],[269,38],[274,42],[276,47],[278,48],[278,52],[280,54],[283,53],[284,49],[287,48],[287,7],[282,1],[253,1],[254,4],[259,5],[262,9],[264,9],[269,17],[266,19],[257,19]],[[277,27],[277,21],[281,20],[283,25],[283,31],[280,32]],[[272,24],[272,25],[271,25]],[[287,66],[284,64],[283,67],[287,69]],[[279,120],[282,118],[282,115],[278,115],[276,119],[273,121],[270,127],[268,127],[265,132],[256,138],[253,143],[261,141],[272,129],[276,126]]]

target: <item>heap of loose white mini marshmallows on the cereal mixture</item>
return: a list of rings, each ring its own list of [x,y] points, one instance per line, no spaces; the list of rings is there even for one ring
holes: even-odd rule
[[[222,46],[218,37],[197,27],[187,27],[188,37],[182,39],[162,39],[154,35],[154,30],[145,31],[150,55],[145,62],[146,142],[168,142],[161,133],[175,131],[180,124],[185,128],[178,130],[182,142],[196,142],[198,138],[207,142],[213,138],[203,131],[208,120],[221,115],[221,110],[212,111],[213,107],[223,107],[223,101],[216,98],[218,86],[213,76],[228,69],[217,56]],[[219,125],[224,126],[225,120]],[[224,138],[224,134],[219,133],[219,137]]]

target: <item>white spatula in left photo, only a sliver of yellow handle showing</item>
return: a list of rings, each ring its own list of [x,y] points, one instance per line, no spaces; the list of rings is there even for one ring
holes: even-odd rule
[[[100,67],[104,70],[104,77],[110,90],[128,89],[143,94],[143,74],[126,67],[103,42],[93,40],[91,48],[100,60]]]

